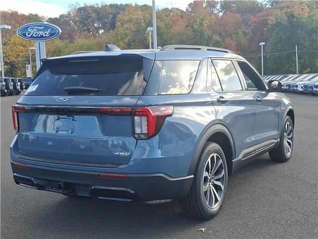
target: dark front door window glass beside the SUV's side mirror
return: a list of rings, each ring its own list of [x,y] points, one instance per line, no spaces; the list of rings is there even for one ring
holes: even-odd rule
[[[243,73],[248,91],[263,91],[265,90],[264,84],[256,72],[246,63],[238,62],[239,68]]]

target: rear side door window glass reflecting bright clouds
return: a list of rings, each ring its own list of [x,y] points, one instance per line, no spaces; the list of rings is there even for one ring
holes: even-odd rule
[[[217,70],[223,91],[241,91],[242,86],[239,76],[232,61],[214,60],[213,64]]]

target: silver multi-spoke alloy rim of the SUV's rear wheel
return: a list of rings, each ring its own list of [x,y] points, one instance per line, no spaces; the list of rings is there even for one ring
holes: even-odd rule
[[[224,165],[220,155],[209,156],[203,173],[203,196],[210,208],[216,208],[223,196],[225,182]]]

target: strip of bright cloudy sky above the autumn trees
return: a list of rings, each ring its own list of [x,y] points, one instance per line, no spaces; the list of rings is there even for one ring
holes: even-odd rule
[[[156,0],[156,8],[178,7],[185,9],[192,0]],[[66,13],[70,4],[132,3],[149,4],[152,0],[1,0],[0,10],[16,10],[19,13],[37,13],[41,16],[56,17]]]

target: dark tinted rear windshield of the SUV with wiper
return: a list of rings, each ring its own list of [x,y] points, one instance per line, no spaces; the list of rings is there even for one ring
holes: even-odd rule
[[[99,59],[53,60],[44,64],[25,95],[142,95],[153,61],[141,56],[112,56]],[[98,91],[67,92],[70,87],[93,88]]]

